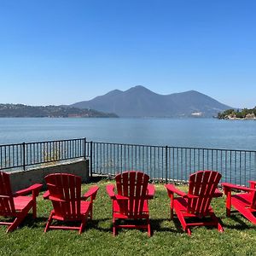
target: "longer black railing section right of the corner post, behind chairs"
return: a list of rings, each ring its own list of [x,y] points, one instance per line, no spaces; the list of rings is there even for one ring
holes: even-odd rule
[[[222,174],[222,182],[256,180],[256,151],[87,142],[86,152],[91,173],[140,170],[165,183],[186,183],[193,172],[214,170]]]

